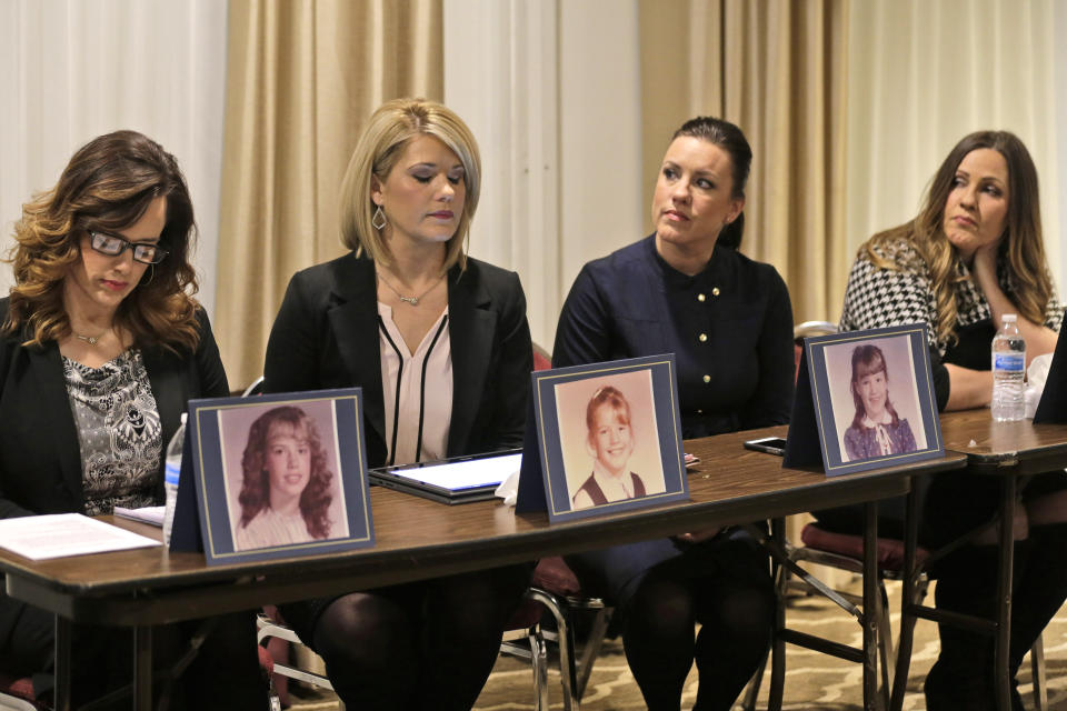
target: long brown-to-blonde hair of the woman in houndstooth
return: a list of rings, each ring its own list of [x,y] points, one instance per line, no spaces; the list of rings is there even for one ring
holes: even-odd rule
[[[936,339],[956,340],[956,248],[945,236],[945,204],[953,190],[959,163],[974,150],[988,148],[1004,156],[1008,166],[1008,214],[998,263],[1006,264],[1009,282],[1017,291],[1011,300],[1019,313],[1034,323],[1045,322],[1045,308],[1053,297],[1053,280],[1041,239],[1041,208],[1037,169],[1026,146],[1008,131],[977,131],[965,136],[938,168],[919,214],[905,224],[879,232],[861,248],[881,269],[914,268],[901,246],[915,249],[925,262],[930,290],[937,304]]]

